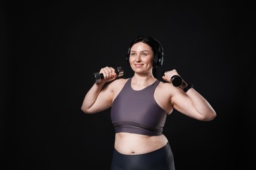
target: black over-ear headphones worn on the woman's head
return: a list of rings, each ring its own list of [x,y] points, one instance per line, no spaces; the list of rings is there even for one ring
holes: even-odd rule
[[[163,46],[156,39],[153,39],[153,41],[154,41],[154,44],[155,44],[156,50],[157,50],[155,57],[154,57],[154,61],[153,61],[153,67],[155,67],[155,68],[161,67],[161,65],[163,65]],[[133,44],[131,46],[133,46]],[[126,55],[126,63],[129,63],[131,46],[129,47],[127,55]],[[154,48],[154,47],[152,47],[152,48]]]

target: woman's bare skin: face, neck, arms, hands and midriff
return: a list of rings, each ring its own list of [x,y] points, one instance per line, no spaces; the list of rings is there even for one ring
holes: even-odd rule
[[[131,79],[133,90],[142,90],[156,81],[152,74],[153,59],[154,52],[148,44],[137,42],[131,47],[129,62],[134,71]],[[104,67],[100,69],[100,73],[103,73],[104,80],[93,84],[85,95],[81,106],[81,110],[87,114],[100,112],[111,107],[114,99],[128,80],[127,78],[116,79],[117,75],[112,67]],[[163,80],[168,82],[160,82],[157,86],[154,92],[156,103],[168,115],[175,109],[196,120],[213,120],[216,117],[216,112],[207,100],[194,88],[190,88],[185,93],[180,88],[173,86],[169,83],[173,75],[179,75],[175,69],[163,75]],[[106,82],[110,83],[103,88]],[[165,135],[146,136],[121,132],[116,133],[114,146],[121,154],[144,154],[165,146],[167,142]]]

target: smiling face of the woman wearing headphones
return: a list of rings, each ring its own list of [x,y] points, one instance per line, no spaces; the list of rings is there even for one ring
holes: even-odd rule
[[[136,73],[152,71],[154,52],[148,44],[137,42],[130,50],[129,62]]]

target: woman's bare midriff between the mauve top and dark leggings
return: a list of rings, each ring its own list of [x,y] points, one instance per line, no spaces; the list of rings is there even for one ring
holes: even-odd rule
[[[135,133],[116,133],[115,148],[121,154],[146,154],[165,146],[165,135],[147,136]]]

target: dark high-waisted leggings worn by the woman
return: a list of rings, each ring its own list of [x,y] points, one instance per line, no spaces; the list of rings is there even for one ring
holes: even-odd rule
[[[162,148],[138,155],[125,155],[114,149],[111,170],[175,170],[173,152],[167,143]]]

